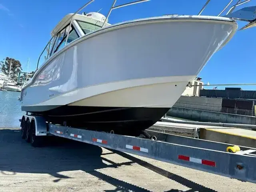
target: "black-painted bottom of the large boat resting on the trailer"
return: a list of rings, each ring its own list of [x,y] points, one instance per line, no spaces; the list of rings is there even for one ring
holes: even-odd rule
[[[155,124],[170,108],[144,107],[85,107],[60,106],[44,111],[32,112],[46,117],[48,122],[98,131],[114,130],[115,133],[130,134]],[[30,111],[29,111],[30,112]],[[122,133],[121,133],[122,132]]]

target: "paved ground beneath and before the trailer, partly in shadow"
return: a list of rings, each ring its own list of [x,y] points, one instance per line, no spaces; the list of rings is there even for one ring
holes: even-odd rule
[[[20,130],[0,129],[0,191],[251,192],[256,184],[63,139],[33,148]]]

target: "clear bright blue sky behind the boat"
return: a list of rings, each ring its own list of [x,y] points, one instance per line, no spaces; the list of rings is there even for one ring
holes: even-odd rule
[[[50,39],[50,31],[66,14],[75,12],[87,1],[0,0],[0,60],[6,56],[18,59],[26,71],[30,57],[29,71],[35,70],[38,56]],[[123,2],[130,0],[117,0],[117,5]],[[206,0],[151,0],[113,10],[109,22],[114,24],[163,14],[195,15],[205,2]],[[229,0],[212,0],[202,15],[217,15],[228,2]],[[102,8],[100,12],[106,15],[111,4],[112,0],[95,0],[84,11],[97,12]],[[256,0],[244,4],[253,5],[256,5]],[[239,24],[241,28],[244,23]],[[256,83],[255,34],[256,27],[238,31],[200,72],[202,80],[210,84]],[[239,87],[244,90],[256,90],[256,86]]]

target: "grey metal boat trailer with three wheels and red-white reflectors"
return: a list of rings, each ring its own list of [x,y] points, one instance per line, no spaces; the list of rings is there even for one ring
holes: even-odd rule
[[[31,142],[35,147],[43,144],[44,136],[58,136],[256,183],[256,148],[239,146],[236,151],[232,144],[153,130],[146,130],[150,138],[124,136],[112,131],[107,133],[56,125],[33,114],[22,116],[20,122],[22,133],[27,133],[26,142]]]

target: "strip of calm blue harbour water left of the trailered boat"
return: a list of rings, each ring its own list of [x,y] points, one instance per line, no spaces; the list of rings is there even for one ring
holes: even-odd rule
[[[20,92],[0,91],[0,127],[20,127],[19,119],[26,113],[21,111],[19,96]]]

